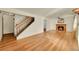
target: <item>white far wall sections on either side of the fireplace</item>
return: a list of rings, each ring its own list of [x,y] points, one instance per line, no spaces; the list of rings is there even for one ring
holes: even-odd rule
[[[73,17],[74,15],[69,15],[66,17],[62,17],[64,18],[64,22],[66,23],[66,30],[68,32],[72,32],[73,31]],[[56,30],[56,22],[57,22],[57,18],[52,18],[52,19],[48,19],[48,30]]]

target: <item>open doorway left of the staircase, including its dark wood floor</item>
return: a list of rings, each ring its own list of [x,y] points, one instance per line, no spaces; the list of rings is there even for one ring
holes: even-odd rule
[[[14,17],[13,15],[4,14],[2,17],[2,41],[16,40],[14,35]]]

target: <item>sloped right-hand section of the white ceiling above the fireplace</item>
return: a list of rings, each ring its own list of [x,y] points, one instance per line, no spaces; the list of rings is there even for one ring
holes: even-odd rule
[[[70,16],[70,15],[74,15],[74,12],[72,11],[73,8],[63,8],[55,13],[52,13],[50,15],[48,15],[47,17],[49,18],[56,18],[56,17],[65,17],[65,16]]]

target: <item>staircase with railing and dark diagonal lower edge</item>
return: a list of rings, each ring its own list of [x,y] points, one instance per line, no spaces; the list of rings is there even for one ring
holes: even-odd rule
[[[34,22],[34,17],[26,16],[22,21],[16,24],[16,36],[22,33],[27,27]]]

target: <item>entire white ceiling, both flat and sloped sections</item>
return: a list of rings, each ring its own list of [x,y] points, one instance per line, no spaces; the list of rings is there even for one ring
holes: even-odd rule
[[[62,17],[65,15],[73,15],[73,8],[16,8],[17,10],[28,12],[44,17]]]

